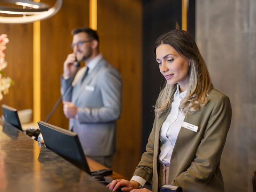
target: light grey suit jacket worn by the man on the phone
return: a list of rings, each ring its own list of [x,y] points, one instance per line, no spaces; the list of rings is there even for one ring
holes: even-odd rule
[[[78,71],[79,72],[79,71]],[[74,78],[61,78],[62,93]],[[78,108],[78,119],[69,119],[69,130],[78,134],[84,154],[109,156],[116,151],[116,120],[121,114],[122,81],[119,72],[101,59],[81,83],[81,78],[63,100]]]

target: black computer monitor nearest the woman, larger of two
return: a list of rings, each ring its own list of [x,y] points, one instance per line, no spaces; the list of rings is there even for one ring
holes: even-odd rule
[[[47,148],[91,175],[84,151],[76,133],[43,121],[39,121],[38,126]]]

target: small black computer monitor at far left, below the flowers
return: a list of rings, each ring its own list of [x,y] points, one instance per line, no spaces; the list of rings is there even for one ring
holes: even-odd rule
[[[17,127],[20,131],[22,131],[17,109],[4,104],[2,105],[2,109],[5,121],[9,124],[12,124],[14,127]]]

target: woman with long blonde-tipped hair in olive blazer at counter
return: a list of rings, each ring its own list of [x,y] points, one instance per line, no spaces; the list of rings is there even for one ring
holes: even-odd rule
[[[220,156],[231,121],[228,97],[213,89],[193,37],[173,30],[156,40],[156,62],[166,85],[156,101],[146,152],[131,181],[113,180],[111,190],[153,191],[164,184],[183,191],[224,191]]]

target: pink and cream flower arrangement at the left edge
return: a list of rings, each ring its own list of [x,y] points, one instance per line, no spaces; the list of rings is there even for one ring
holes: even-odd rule
[[[9,42],[6,34],[0,35],[0,100],[3,99],[3,94],[9,92],[9,87],[13,84],[13,81],[10,77],[7,77],[2,71],[7,66],[7,62],[4,60],[5,54],[4,50],[6,49],[6,44]]]

